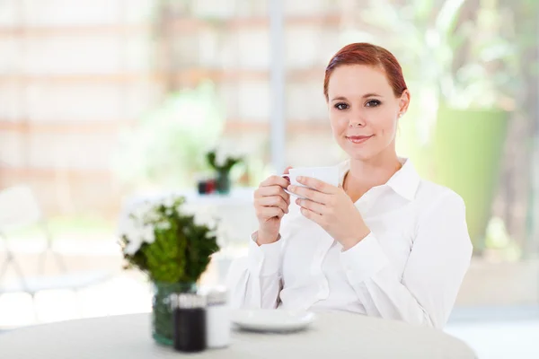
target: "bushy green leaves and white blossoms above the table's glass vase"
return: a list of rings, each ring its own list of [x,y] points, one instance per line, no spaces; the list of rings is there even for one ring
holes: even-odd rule
[[[216,226],[182,211],[183,197],[138,206],[122,228],[120,246],[127,267],[155,283],[194,283],[219,250]]]

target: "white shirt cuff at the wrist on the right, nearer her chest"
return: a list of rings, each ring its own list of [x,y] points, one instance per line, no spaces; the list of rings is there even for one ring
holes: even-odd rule
[[[340,252],[340,263],[351,284],[361,283],[389,264],[373,232],[349,250]]]

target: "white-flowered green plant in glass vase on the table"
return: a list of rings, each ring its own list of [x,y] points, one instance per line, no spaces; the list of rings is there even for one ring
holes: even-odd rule
[[[146,202],[120,228],[126,268],[141,270],[154,285],[152,335],[168,346],[172,345],[170,295],[196,292],[210,256],[219,250],[216,225],[190,214],[184,202],[184,197]]]

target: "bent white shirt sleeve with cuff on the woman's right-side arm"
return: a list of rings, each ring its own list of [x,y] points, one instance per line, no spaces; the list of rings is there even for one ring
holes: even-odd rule
[[[367,315],[443,328],[471,256],[464,202],[446,191],[419,219],[402,278],[376,233],[341,252],[340,261]]]

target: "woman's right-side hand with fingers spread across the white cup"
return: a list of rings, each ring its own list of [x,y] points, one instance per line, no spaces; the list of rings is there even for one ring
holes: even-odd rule
[[[343,250],[349,250],[367,237],[370,230],[344,189],[309,177],[296,180],[308,187],[288,186],[290,192],[305,198],[296,199],[302,215],[339,241]]]

